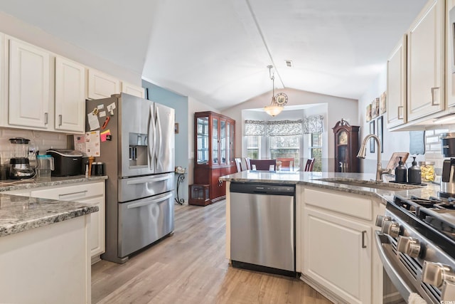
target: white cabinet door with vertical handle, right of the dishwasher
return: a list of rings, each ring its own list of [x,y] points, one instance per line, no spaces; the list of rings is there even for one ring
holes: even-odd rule
[[[302,231],[304,274],[348,303],[371,303],[370,226],[306,206]]]

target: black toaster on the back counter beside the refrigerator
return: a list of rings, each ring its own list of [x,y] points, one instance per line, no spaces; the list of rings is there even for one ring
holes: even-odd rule
[[[82,152],[69,149],[50,149],[46,154],[54,158],[53,177],[80,175]]]

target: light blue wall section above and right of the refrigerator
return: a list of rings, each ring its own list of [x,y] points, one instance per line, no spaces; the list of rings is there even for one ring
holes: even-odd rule
[[[188,97],[173,93],[146,80],[142,80],[142,88],[145,90],[145,98],[176,110],[176,123],[178,123],[178,134],[176,134],[176,166],[181,166],[188,170]],[[177,177],[175,187],[177,187]],[[185,174],[185,179],[179,186],[178,194],[181,199],[188,201],[188,174]]]

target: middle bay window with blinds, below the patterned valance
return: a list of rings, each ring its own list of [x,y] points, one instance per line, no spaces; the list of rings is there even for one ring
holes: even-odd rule
[[[299,167],[300,137],[300,135],[270,136],[270,158],[277,159],[277,157],[292,157],[294,158],[294,167]]]

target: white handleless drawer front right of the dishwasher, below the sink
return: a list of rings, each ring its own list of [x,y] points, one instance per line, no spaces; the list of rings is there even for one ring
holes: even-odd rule
[[[338,194],[305,189],[304,201],[307,205],[318,206],[360,219],[366,219],[368,221],[373,219],[373,201],[371,199],[353,196],[350,193]]]

